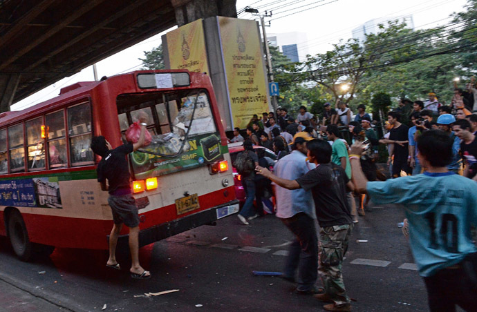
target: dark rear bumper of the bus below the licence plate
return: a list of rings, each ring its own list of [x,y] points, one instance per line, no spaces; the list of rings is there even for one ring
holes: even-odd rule
[[[235,213],[238,213],[238,204],[238,199],[234,199],[231,202],[214,206],[205,211],[200,211],[178,220],[159,224],[157,226],[151,226],[150,228],[144,228],[139,233],[139,246],[146,246],[153,242],[163,240],[167,237],[191,230],[192,228],[196,228],[204,224],[211,224],[212,222],[215,222],[216,220],[223,217],[234,215]],[[120,235],[120,237],[118,237],[119,250],[129,249],[128,239],[129,235]]]

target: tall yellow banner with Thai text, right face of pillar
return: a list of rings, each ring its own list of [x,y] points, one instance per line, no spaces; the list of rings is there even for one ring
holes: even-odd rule
[[[256,21],[218,17],[232,122],[245,128],[254,114],[268,112],[261,39]]]

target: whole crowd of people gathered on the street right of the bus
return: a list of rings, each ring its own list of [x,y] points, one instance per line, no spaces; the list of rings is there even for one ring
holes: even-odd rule
[[[466,91],[456,86],[449,106],[433,92],[427,101],[400,99],[386,116],[385,134],[377,133],[378,121],[366,113],[366,106],[359,105],[353,116],[342,101],[336,101],[335,109],[324,104],[321,117],[305,106],[297,117],[290,117],[285,108],[276,114],[254,115],[247,136],[236,128],[231,139],[244,142],[250,168],[255,167],[242,180],[247,199],[238,218],[249,224],[247,220],[259,216],[266,198],[263,191],[256,195],[254,189],[263,187],[256,181],[265,177],[273,182],[276,206],[268,210],[294,235],[282,277],[297,283],[298,293],[328,302],[324,309],[350,311],[342,260],[353,224],[365,215],[370,199],[374,204],[406,204],[403,232],[409,234],[431,311],[455,311],[456,304],[474,311],[476,91],[472,79]],[[389,153],[390,179],[376,165],[380,144]],[[277,153],[273,170],[270,163],[259,163],[259,157],[253,156],[253,145]],[[255,211],[254,199],[260,206]],[[322,288],[316,286],[317,273]]]

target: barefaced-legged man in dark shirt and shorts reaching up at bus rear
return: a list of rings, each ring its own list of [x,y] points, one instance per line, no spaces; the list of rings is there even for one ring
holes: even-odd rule
[[[108,203],[113,213],[113,229],[109,236],[109,259],[106,266],[113,269],[120,269],[116,260],[116,245],[122,224],[129,227],[129,250],[131,251],[131,277],[137,279],[147,279],[151,273],[142,268],[139,264],[139,215],[135,206],[134,197],[131,195],[129,180],[131,175],[126,160],[126,155],[138,150],[144,144],[145,123],[140,119],[141,134],[138,142],[134,144],[124,144],[112,149],[111,144],[103,136],[93,137],[91,149],[102,157],[97,164],[97,181],[101,183],[102,191],[109,191]],[[109,189],[106,188],[108,179]]]

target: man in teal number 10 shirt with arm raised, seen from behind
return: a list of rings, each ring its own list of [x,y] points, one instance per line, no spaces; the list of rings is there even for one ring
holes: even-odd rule
[[[477,183],[447,169],[453,160],[453,139],[442,130],[428,130],[418,139],[420,175],[368,182],[359,156],[351,148],[355,188],[376,204],[403,204],[409,220],[409,243],[427,288],[429,308],[465,311],[477,306],[477,251],[471,225],[477,224]]]

